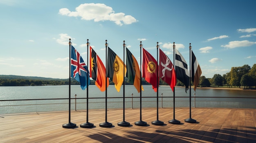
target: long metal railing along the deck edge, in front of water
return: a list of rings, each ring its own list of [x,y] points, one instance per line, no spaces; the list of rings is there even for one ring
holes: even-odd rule
[[[133,95],[133,94],[131,94]],[[126,108],[140,108],[140,97],[125,97]],[[142,108],[156,108],[156,97],[141,97]],[[173,97],[161,94],[159,108],[173,108]],[[87,98],[71,98],[71,110],[85,110]],[[105,109],[105,98],[91,97],[89,109]],[[122,108],[123,97],[108,97],[108,108]],[[256,97],[191,97],[192,107],[203,108],[253,108],[256,109]],[[195,100],[196,99],[196,100]],[[175,97],[175,107],[189,107],[189,97]],[[13,99],[0,100],[0,114],[47,112],[68,110],[68,98],[56,99]]]

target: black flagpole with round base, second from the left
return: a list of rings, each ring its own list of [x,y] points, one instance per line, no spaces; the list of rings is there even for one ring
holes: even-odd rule
[[[90,44],[88,41],[89,41],[89,39],[87,39],[87,69],[89,69],[88,68],[88,61],[89,61],[88,53],[89,53],[89,44]],[[87,71],[87,81],[86,81],[87,84],[88,84],[88,81],[90,81],[89,76],[90,76],[89,72]],[[88,118],[88,104],[89,104],[89,102],[88,102],[88,98],[89,98],[88,93],[89,93],[89,85],[87,85],[87,88],[86,88],[86,96],[87,96],[87,98],[86,98],[86,123],[80,124],[81,128],[91,128],[91,127],[94,126],[93,123],[88,122],[88,120],[89,120],[89,118]]]

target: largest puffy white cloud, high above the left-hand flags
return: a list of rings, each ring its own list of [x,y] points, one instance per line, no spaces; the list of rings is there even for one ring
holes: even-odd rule
[[[99,3],[80,4],[78,7],[76,7],[76,11],[70,11],[67,8],[59,9],[59,14],[81,17],[82,20],[94,20],[94,22],[110,20],[119,26],[137,22],[137,20],[131,15],[125,15],[125,13],[115,13],[112,7]]]

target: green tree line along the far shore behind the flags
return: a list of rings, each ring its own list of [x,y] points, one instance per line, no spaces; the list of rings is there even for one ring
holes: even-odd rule
[[[125,78],[127,85],[131,84]],[[71,78],[72,85],[79,85],[80,83],[74,78]],[[0,86],[42,86],[42,85],[68,85],[69,79],[54,79],[45,77],[27,77],[18,75],[0,75]],[[94,80],[90,80],[90,84],[95,84]],[[110,81],[110,84],[114,84]],[[142,84],[149,84],[142,79]],[[166,85],[160,78],[159,85]],[[192,83],[193,85],[193,83]],[[184,86],[182,82],[177,80],[176,86]],[[256,64],[252,66],[244,65],[240,67],[232,67],[229,73],[224,75],[215,74],[212,78],[200,77],[200,87],[229,87],[236,88],[243,86],[244,89],[256,89]]]

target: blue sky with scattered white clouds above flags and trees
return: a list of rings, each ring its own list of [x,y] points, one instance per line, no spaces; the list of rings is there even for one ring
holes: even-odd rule
[[[106,63],[108,46],[140,63],[140,42],[189,65],[189,43],[212,78],[256,64],[255,0],[0,0],[0,75],[69,78],[69,39],[87,63],[87,39]],[[126,59],[125,59],[126,60]],[[90,61],[89,61],[90,62]],[[89,64],[90,65],[90,64]]]

